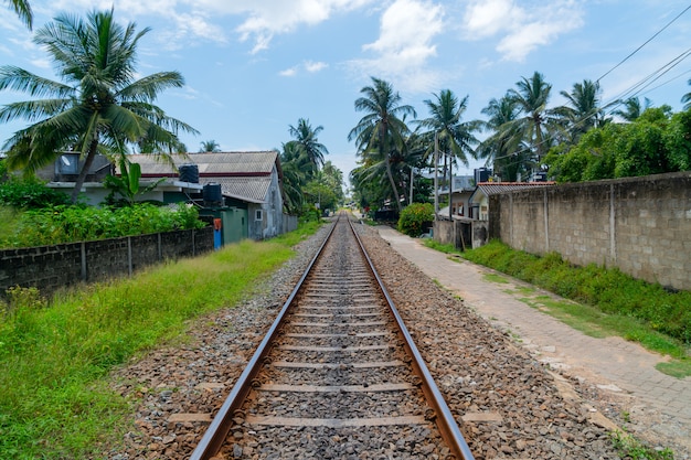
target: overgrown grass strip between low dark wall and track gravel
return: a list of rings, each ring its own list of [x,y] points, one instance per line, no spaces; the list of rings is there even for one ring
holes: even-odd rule
[[[129,279],[56,296],[14,289],[0,320],[0,458],[87,458],[121,439],[130,402],[110,370],[184,335],[189,321],[235,304],[291,257],[318,223],[245,240]]]

